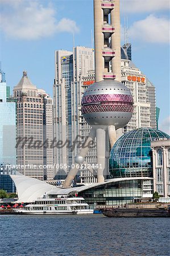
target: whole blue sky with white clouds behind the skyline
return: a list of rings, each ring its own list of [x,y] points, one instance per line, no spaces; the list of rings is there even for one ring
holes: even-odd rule
[[[132,61],[155,85],[159,129],[169,133],[169,0],[120,0]],[[0,0],[0,60],[11,89],[22,72],[52,96],[55,51],[91,47],[93,0]]]

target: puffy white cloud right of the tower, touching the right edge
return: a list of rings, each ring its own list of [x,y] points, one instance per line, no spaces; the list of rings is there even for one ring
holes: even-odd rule
[[[169,20],[151,14],[146,19],[134,22],[128,34],[132,39],[148,43],[169,43]]]

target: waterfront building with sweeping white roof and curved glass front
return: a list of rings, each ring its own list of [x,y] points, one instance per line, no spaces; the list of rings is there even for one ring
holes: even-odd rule
[[[57,188],[44,181],[26,176],[11,175],[18,191],[16,203],[30,203],[43,195],[77,195],[85,202],[96,207],[125,207],[125,204],[143,200],[143,182],[148,177],[122,177],[102,183],[83,185],[73,188]]]

